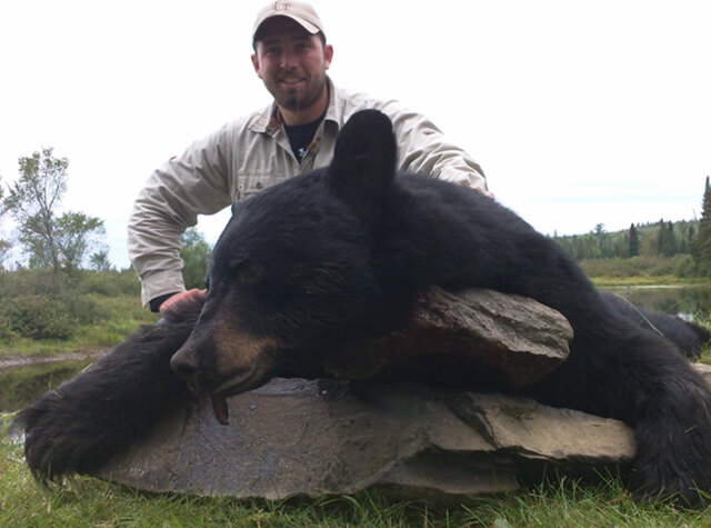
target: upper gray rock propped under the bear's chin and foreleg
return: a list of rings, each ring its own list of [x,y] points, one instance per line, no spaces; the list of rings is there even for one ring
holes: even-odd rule
[[[327,365],[341,379],[428,377],[431,366],[459,360],[467,379],[495,377],[499,387],[520,389],[568,358],[573,331],[558,311],[540,302],[493,290],[457,295],[431,288],[394,332],[344,350]],[[447,357],[447,359],[443,359]],[[483,376],[481,373],[483,372]]]

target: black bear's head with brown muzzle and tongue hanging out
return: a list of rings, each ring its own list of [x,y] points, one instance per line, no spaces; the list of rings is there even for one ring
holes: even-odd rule
[[[207,277],[204,307],[172,369],[212,398],[272,376],[317,375],[334,343],[375,332],[383,295],[373,232],[395,176],[390,120],[356,113],[331,165],[269,188],[232,209]]]

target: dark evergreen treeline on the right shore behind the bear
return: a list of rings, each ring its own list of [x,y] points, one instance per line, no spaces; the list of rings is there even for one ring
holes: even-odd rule
[[[673,259],[680,277],[711,277],[711,183],[709,177],[702,198],[700,220],[677,222],[660,219],[653,223],[631,225],[629,229],[607,232],[599,223],[587,235],[553,236],[579,261],[600,259]]]

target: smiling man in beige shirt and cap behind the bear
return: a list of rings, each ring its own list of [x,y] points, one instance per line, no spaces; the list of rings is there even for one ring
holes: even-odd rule
[[[304,2],[277,1],[257,17],[252,63],[274,102],[193,143],[149,178],[129,221],[129,256],[141,278],[141,299],[164,311],[188,297],[180,237],[234,201],[329,163],[338,131],[365,108],[393,122],[399,166],[487,191],[479,165],[448,143],[423,116],[395,101],[378,101],[333,86],[327,70],[333,47]],[[179,295],[176,295],[179,293]],[[168,300],[170,299],[170,300]],[[168,302],[166,302],[168,300]]]

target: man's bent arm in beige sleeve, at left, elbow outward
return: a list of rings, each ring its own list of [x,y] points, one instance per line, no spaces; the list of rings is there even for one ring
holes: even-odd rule
[[[154,171],[129,220],[129,257],[141,278],[141,300],[184,291],[180,237],[198,215],[231,203],[227,127],[197,141]]]

